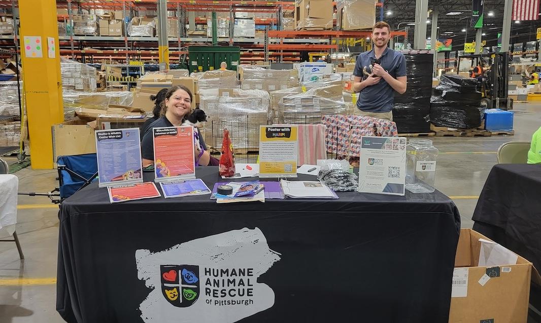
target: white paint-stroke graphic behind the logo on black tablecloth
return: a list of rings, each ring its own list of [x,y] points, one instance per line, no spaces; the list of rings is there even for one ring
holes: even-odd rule
[[[144,322],[223,322],[233,323],[274,305],[274,291],[266,284],[257,282],[259,276],[280,260],[279,253],[269,249],[265,235],[259,228],[233,230],[209,237],[195,239],[175,245],[168,250],[151,253],[137,250],[135,261],[137,278],[145,281],[153,289],[140,304],[141,318]],[[175,307],[163,296],[161,290],[161,265],[197,265],[200,275],[200,295],[189,307]],[[226,269],[253,268],[253,296],[215,298],[206,295],[205,285],[208,276],[205,268]],[[226,278],[227,280],[227,278]],[[212,288],[212,286],[210,286]],[[237,287],[226,287],[237,288]],[[215,301],[252,300],[250,305],[216,305]],[[209,304],[210,302],[210,304]]]

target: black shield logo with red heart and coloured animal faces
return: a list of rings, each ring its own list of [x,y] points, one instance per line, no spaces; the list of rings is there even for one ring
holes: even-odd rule
[[[192,306],[199,298],[199,266],[161,265],[163,297],[173,306]]]

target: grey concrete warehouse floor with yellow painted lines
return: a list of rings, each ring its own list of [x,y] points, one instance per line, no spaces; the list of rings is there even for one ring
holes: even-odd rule
[[[477,197],[496,164],[498,147],[530,141],[541,126],[541,102],[516,104],[514,109],[514,136],[431,137],[440,151],[436,187],[453,197],[463,227],[473,225]],[[9,164],[16,161],[5,159]],[[15,174],[19,192],[47,192],[57,185],[56,171],[29,167]],[[55,310],[58,207],[47,197],[19,196],[18,204],[37,206],[18,210],[17,232],[25,260],[19,261],[15,243],[0,244],[0,323],[63,322]]]

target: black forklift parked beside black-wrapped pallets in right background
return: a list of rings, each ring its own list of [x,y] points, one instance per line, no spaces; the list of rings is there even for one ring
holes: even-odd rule
[[[502,110],[513,109],[513,99],[507,97],[509,79],[509,53],[486,53],[472,54],[458,57],[458,66],[460,59],[467,58],[472,61],[472,68],[481,63],[482,60],[488,63],[490,69],[483,73],[483,81],[479,82],[478,90],[481,92],[481,104],[488,109],[497,108]]]

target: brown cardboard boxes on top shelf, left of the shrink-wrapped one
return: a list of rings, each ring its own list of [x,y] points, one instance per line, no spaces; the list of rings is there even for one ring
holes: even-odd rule
[[[332,29],[333,2],[328,0],[296,0],[294,17],[296,29]]]

